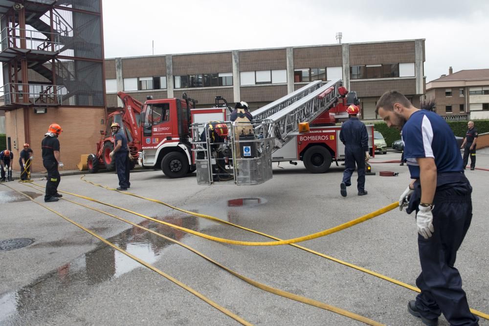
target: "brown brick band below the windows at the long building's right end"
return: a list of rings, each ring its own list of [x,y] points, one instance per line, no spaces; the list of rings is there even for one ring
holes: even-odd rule
[[[402,94],[416,94],[416,79],[370,80],[365,82],[350,81],[351,90],[355,90],[358,97],[381,96],[389,89],[397,89]]]

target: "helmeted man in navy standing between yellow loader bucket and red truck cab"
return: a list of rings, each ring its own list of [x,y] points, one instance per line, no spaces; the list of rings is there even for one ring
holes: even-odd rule
[[[117,122],[112,123],[111,130],[115,147],[110,156],[115,159],[115,170],[117,170],[117,177],[119,178],[117,190],[127,190],[131,188],[131,182],[129,182],[129,172],[131,170],[129,166],[129,147],[127,146],[126,135],[120,129],[121,127]]]

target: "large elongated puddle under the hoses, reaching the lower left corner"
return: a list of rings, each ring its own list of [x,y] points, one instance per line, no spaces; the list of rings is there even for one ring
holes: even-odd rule
[[[192,230],[200,228],[199,219],[186,214],[154,218]],[[182,240],[188,235],[183,231],[155,221],[145,220],[139,225],[176,240]],[[170,240],[135,226],[108,240],[150,264],[153,264],[159,256],[163,255],[166,248],[174,244]],[[77,244],[82,243],[59,240],[44,244],[38,243],[36,246],[59,247]],[[16,324],[24,320],[26,316],[55,314],[65,306],[66,297],[71,293],[73,295],[88,293],[92,286],[121,277],[137,267],[145,268],[112,247],[100,243],[96,249],[60,266],[55,271],[38,278],[20,290],[0,296],[0,324],[4,322]]]

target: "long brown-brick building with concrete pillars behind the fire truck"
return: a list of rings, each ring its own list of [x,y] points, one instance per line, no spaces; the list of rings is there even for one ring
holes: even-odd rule
[[[389,89],[419,105],[424,61],[424,39],[112,58],[105,62],[107,105],[121,106],[118,91],[140,101],[186,92],[198,107],[220,95],[253,110],[311,81],[342,78],[356,90],[362,117],[376,119],[376,102]]]

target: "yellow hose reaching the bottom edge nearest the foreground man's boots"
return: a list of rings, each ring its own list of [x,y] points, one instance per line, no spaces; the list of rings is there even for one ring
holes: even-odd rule
[[[37,189],[37,188],[35,188],[35,187],[33,187],[33,186],[30,186],[30,185],[28,185],[28,184],[25,184],[25,185],[26,185],[26,186],[28,186],[28,187],[30,187],[30,188],[33,188],[33,189],[39,190],[39,189]],[[38,186],[38,187],[39,187],[39,185],[36,185],[36,186]],[[10,187],[9,187],[9,188],[10,188]],[[11,188],[11,189],[12,189],[12,188]],[[27,195],[26,195],[26,196],[27,196]],[[162,235],[162,234],[160,234],[160,233],[158,233],[158,232],[156,232],[156,231],[153,231],[153,230],[151,230],[151,229],[145,228],[145,227],[140,226],[140,225],[138,225],[138,224],[136,224],[136,223],[133,223],[133,222],[131,222],[131,221],[127,220],[127,219],[124,219],[124,218],[122,218],[122,217],[118,217],[118,216],[116,216],[116,215],[113,215],[113,214],[111,214],[111,213],[104,212],[104,211],[101,211],[101,210],[99,210],[99,209],[96,209],[96,208],[93,208],[93,207],[90,207],[90,206],[87,206],[87,205],[84,205],[84,204],[81,204],[81,203],[78,203],[78,202],[75,202],[75,201],[72,201],[72,200],[69,200],[69,199],[66,199],[66,198],[62,198],[62,199],[66,200],[66,201],[68,201],[68,202],[70,202],[70,203],[73,203],[73,204],[76,204],[76,205],[80,205],[80,206],[82,206],[82,207],[85,207],[85,208],[91,209],[91,210],[93,210],[93,211],[96,211],[96,212],[99,212],[99,213],[102,213],[102,214],[108,215],[108,216],[110,216],[110,217],[117,218],[117,219],[119,219],[119,220],[121,220],[121,221],[124,221],[124,222],[126,222],[126,223],[129,223],[129,224],[131,224],[131,225],[133,225],[133,226],[135,226],[135,227],[137,227],[137,228],[140,228],[140,229],[142,229],[142,230],[148,231],[148,232],[150,232],[150,233],[152,233],[152,234],[154,234],[154,235],[156,235],[156,236],[158,236],[158,237],[161,237],[161,238],[163,238],[163,239],[167,239],[167,240],[169,240],[169,241],[172,241],[172,242],[174,242],[174,243],[177,243],[178,245],[180,245],[180,246],[182,246],[182,247],[184,247],[184,248],[186,248],[186,249],[188,249],[188,250],[190,250],[190,251],[194,252],[195,254],[199,255],[200,257],[204,258],[205,260],[207,260],[207,261],[209,261],[209,262],[211,262],[211,263],[213,263],[213,264],[215,264],[215,265],[219,266],[220,268],[224,269],[224,270],[225,270],[225,271],[227,271],[228,273],[230,273],[230,274],[232,274],[232,275],[234,275],[234,276],[238,277],[239,279],[243,280],[244,282],[246,282],[246,283],[248,283],[248,284],[251,284],[251,285],[253,285],[253,286],[255,286],[255,287],[258,287],[258,288],[260,288],[260,289],[262,289],[262,290],[265,290],[265,291],[267,291],[267,292],[270,292],[270,293],[272,293],[272,294],[276,294],[276,295],[279,295],[279,296],[282,296],[282,297],[285,297],[285,298],[288,298],[288,299],[292,299],[292,300],[295,300],[295,301],[298,301],[298,302],[301,302],[301,303],[304,303],[304,304],[309,304],[309,305],[312,305],[312,306],[315,306],[315,307],[318,307],[318,308],[322,308],[322,309],[325,309],[325,310],[329,310],[329,311],[332,311],[332,312],[337,313],[337,314],[339,314],[339,315],[343,315],[343,316],[345,316],[345,317],[349,317],[349,318],[351,318],[351,319],[355,319],[355,320],[357,320],[357,321],[359,321],[359,322],[363,322],[363,323],[365,323],[365,324],[367,324],[367,325],[372,325],[372,326],[382,326],[382,325],[383,325],[383,324],[380,324],[380,323],[378,323],[378,322],[376,322],[376,321],[374,321],[374,320],[371,320],[371,319],[368,319],[368,318],[363,317],[363,316],[361,316],[361,315],[358,315],[358,314],[356,314],[356,313],[353,313],[353,312],[350,312],[350,311],[347,311],[347,310],[344,310],[344,309],[341,309],[341,308],[335,307],[335,306],[333,306],[333,305],[325,304],[325,303],[323,303],[323,302],[320,302],[320,301],[317,301],[317,300],[314,300],[314,299],[310,299],[310,298],[307,298],[307,297],[303,297],[303,296],[300,296],[300,295],[296,295],[296,294],[293,294],[293,293],[290,293],[290,292],[287,292],[287,291],[284,291],[284,290],[280,290],[280,289],[277,289],[277,288],[274,288],[274,287],[268,286],[268,285],[266,285],[266,284],[264,284],[264,283],[260,283],[260,282],[254,281],[254,280],[252,280],[252,279],[249,279],[249,278],[245,277],[244,275],[239,274],[238,272],[233,271],[232,269],[229,269],[229,268],[225,267],[225,266],[224,266],[224,265],[222,265],[221,263],[219,263],[219,262],[217,262],[217,261],[214,261],[213,259],[211,259],[211,258],[209,258],[209,257],[205,256],[204,254],[202,254],[202,253],[201,253],[201,252],[199,252],[198,250],[196,250],[196,249],[194,249],[194,248],[192,248],[192,247],[190,247],[190,246],[188,246],[188,245],[184,244],[183,242],[180,242],[180,241],[178,241],[178,240],[175,240],[175,239],[172,239],[172,238],[166,237],[166,236],[164,236],[164,235]],[[42,205],[42,206],[44,206],[44,205]],[[76,224],[75,224],[75,225],[76,225]],[[85,229],[84,229],[84,230],[85,230]],[[105,242],[105,241],[104,241],[104,242]]]

